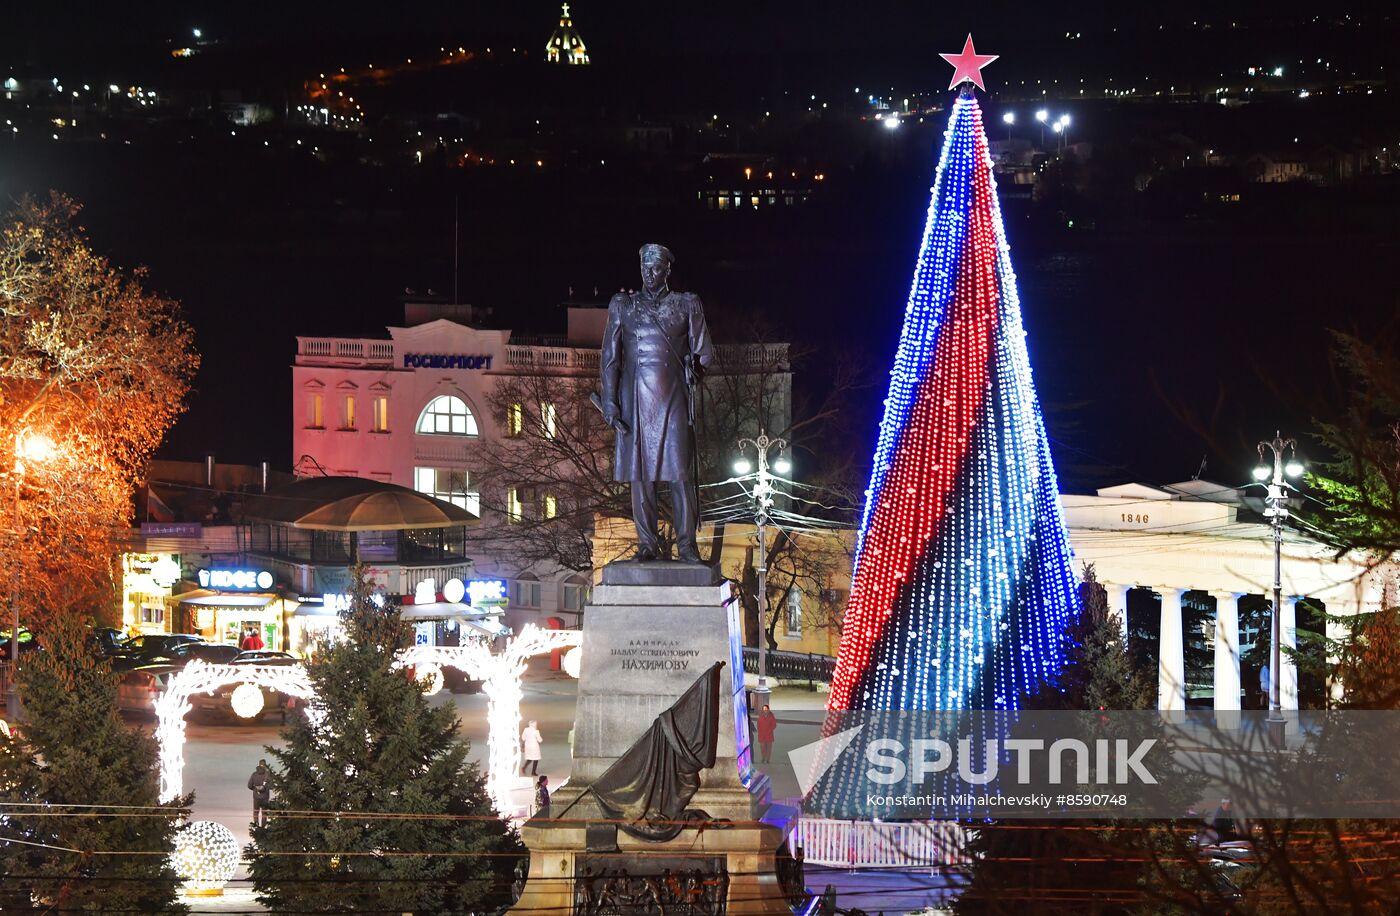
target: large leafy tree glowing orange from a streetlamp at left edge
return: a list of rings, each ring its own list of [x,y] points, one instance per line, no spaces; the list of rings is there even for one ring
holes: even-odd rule
[[[116,609],[133,487],[199,367],[178,303],[92,251],[78,210],[53,193],[0,221],[0,581],[27,626]]]

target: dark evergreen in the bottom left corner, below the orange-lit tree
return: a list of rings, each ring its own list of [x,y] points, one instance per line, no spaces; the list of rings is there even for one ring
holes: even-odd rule
[[[0,838],[22,840],[0,842],[0,910],[183,913],[168,856],[189,797],[160,804],[155,741],[122,721],[88,629],[57,618],[45,641],[20,668],[28,721],[0,738]]]

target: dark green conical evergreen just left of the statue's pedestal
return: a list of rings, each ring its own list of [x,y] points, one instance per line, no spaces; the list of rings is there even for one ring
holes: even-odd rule
[[[253,887],[273,910],[494,909],[508,902],[519,843],[466,761],[452,707],[434,707],[393,668],[412,629],[372,598],[357,569],[344,639],[307,664],[316,699],[283,730],[286,749],[267,748],[272,804],[252,831]]]

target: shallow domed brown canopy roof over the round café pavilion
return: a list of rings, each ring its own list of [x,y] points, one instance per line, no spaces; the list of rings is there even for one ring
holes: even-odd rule
[[[461,506],[364,478],[308,478],[248,501],[245,517],[315,531],[402,531],[475,525]]]

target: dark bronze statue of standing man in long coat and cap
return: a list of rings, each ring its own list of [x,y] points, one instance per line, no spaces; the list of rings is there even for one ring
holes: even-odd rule
[[[671,251],[643,245],[640,255],[641,290],[619,293],[608,304],[599,408],[617,433],[613,479],[631,483],[636,559],[668,559],[657,534],[657,483],[665,482],[679,559],[699,563],[694,389],[714,361],[714,347],[700,297],[666,284]]]

